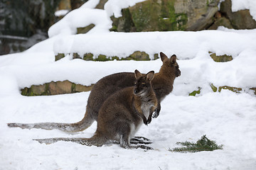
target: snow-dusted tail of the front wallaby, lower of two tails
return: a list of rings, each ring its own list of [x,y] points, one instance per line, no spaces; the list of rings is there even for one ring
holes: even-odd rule
[[[67,137],[55,137],[55,138],[46,138],[46,139],[35,139],[36,141],[40,142],[41,144],[53,144],[58,141],[65,141],[65,142],[75,142],[80,145],[87,145],[92,146],[95,145],[97,147],[101,147],[107,142],[107,138],[102,137],[100,135],[95,134],[91,138],[67,138]]]

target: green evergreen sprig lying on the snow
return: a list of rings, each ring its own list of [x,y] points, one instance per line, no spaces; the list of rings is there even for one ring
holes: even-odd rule
[[[170,152],[202,152],[223,149],[223,145],[217,145],[215,141],[209,140],[206,135],[203,135],[196,143],[186,141],[176,142],[176,145],[183,145],[184,147],[169,148],[168,150]]]

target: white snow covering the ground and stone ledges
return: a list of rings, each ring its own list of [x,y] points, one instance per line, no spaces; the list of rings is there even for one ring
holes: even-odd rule
[[[117,7],[139,1],[108,1],[105,10],[93,9],[96,2],[90,0],[70,11],[50,28],[47,40],[25,52],[0,56],[0,169],[256,169],[256,97],[250,90],[256,86],[256,30],[220,27],[198,32],[111,33],[108,13],[118,15]],[[74,35],[76,27],[93,22],[95,30]],[[149,138],[154,150],[122,149],[119,145],[86,147],[71,142],[41,145],[32,140],[91,137],[97,123],[75,133],[7,127],[6,123],[14,122],[74,123],[85,113],[90,92],[21,96],[20,89],[26,86],[67,79],[90,85],[116,72],[159,72],[160,59],[71,60],[73,52],[126,57],[135,50],[145,51],[151,58],[160,51],[168,56],[176,54],[181,69],[174,91],[161,102],[159,117],[148,126],[142,125],[136,134]],[[233,60],[214,62],[209,51],[232,55]],[[55,62],[58,52],[66,56]],[[240,87],[242,91],[213,92],[210,84]],[[188,96],[198,87],[201,94]],[[202,135],[223,145],[223,149],[187,154],[168,151],[178,147],[176,142],[196,142]]]

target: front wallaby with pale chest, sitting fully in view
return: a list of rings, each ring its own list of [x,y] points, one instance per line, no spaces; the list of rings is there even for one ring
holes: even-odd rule
[[[131,146],[130,140],[142,123],[148,124],[148,119],[151,119],[156,109],[157,99],[151,86],[154,71],[142,76],[135,70],[135,77],[135,86],[117,91],[103,103],[97,118],[97,130],[91,138],[49,138],[37,141],[46,144],[70,141],[99,147],[108,142],[118,142],[124,148],[151,149],[144,145]]]

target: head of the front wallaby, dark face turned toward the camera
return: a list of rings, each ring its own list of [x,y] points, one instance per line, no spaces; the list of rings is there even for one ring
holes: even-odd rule
[[[135,86],[134,94],[143,96],[149,89],[151,89],[151,80],[154,78],[154,71],[148,72],[145,76],[136,69],[135,72]]]

